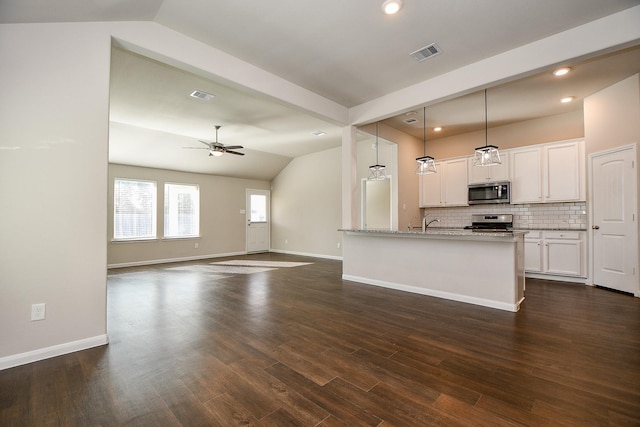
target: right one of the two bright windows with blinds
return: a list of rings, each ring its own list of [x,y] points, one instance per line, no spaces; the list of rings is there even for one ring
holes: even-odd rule
[[[197,185],[164,185],[164,237],[198,237],[200,189]]]

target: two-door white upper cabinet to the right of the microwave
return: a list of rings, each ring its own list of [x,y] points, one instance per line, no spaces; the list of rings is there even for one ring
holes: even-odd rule
[[[584,141],[511,150],[510,161],[511,203],[585,200]]]

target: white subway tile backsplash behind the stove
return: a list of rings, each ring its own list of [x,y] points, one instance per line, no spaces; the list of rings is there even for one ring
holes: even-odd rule
[[[587,229],[585,202],[533,203],[528,205],[482,205],[447,208],[426,208],[423,215],[438,218],[435,226],[461,228],[471,225],[472,214],[512,214],[516,229]],[[413,227],[419,224],[412,224]]]

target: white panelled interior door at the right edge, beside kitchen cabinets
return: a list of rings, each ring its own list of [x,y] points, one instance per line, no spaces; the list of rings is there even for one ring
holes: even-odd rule
[[[639,296],[635,146],[590,158],[593,283]]]

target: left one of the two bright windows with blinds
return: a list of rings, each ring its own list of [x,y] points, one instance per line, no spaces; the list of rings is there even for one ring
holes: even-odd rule
[[[115,179],[113,238],[156,238],[156,183]]]

